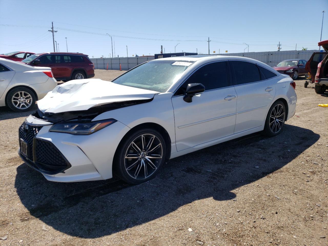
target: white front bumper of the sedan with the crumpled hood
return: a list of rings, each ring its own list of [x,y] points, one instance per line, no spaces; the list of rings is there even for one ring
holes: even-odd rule
[[[33,124],[31,118],[26,124]],[[18,150],[23,161],[34,170],[42,173],[46,179],[56,182],[91,181],[112,178],[113,157],[123,136],[129,127],[117,121],[112,125],[90,135],[72,135],[69,133],[49,132],[51,125],[42,126],[33,138],[33,157],[26,158]],[[36,141],[45,141],[53,145],[67,161],[67,168],[58,169],[55,174],[49,172],[48,166],[58,166],[58,158],[51,157],[53,163],[44,168],[38,163]],[[45,150],[42,156],[53,155],[54,151]],[[31,156],[31,155],[30,155]]]

